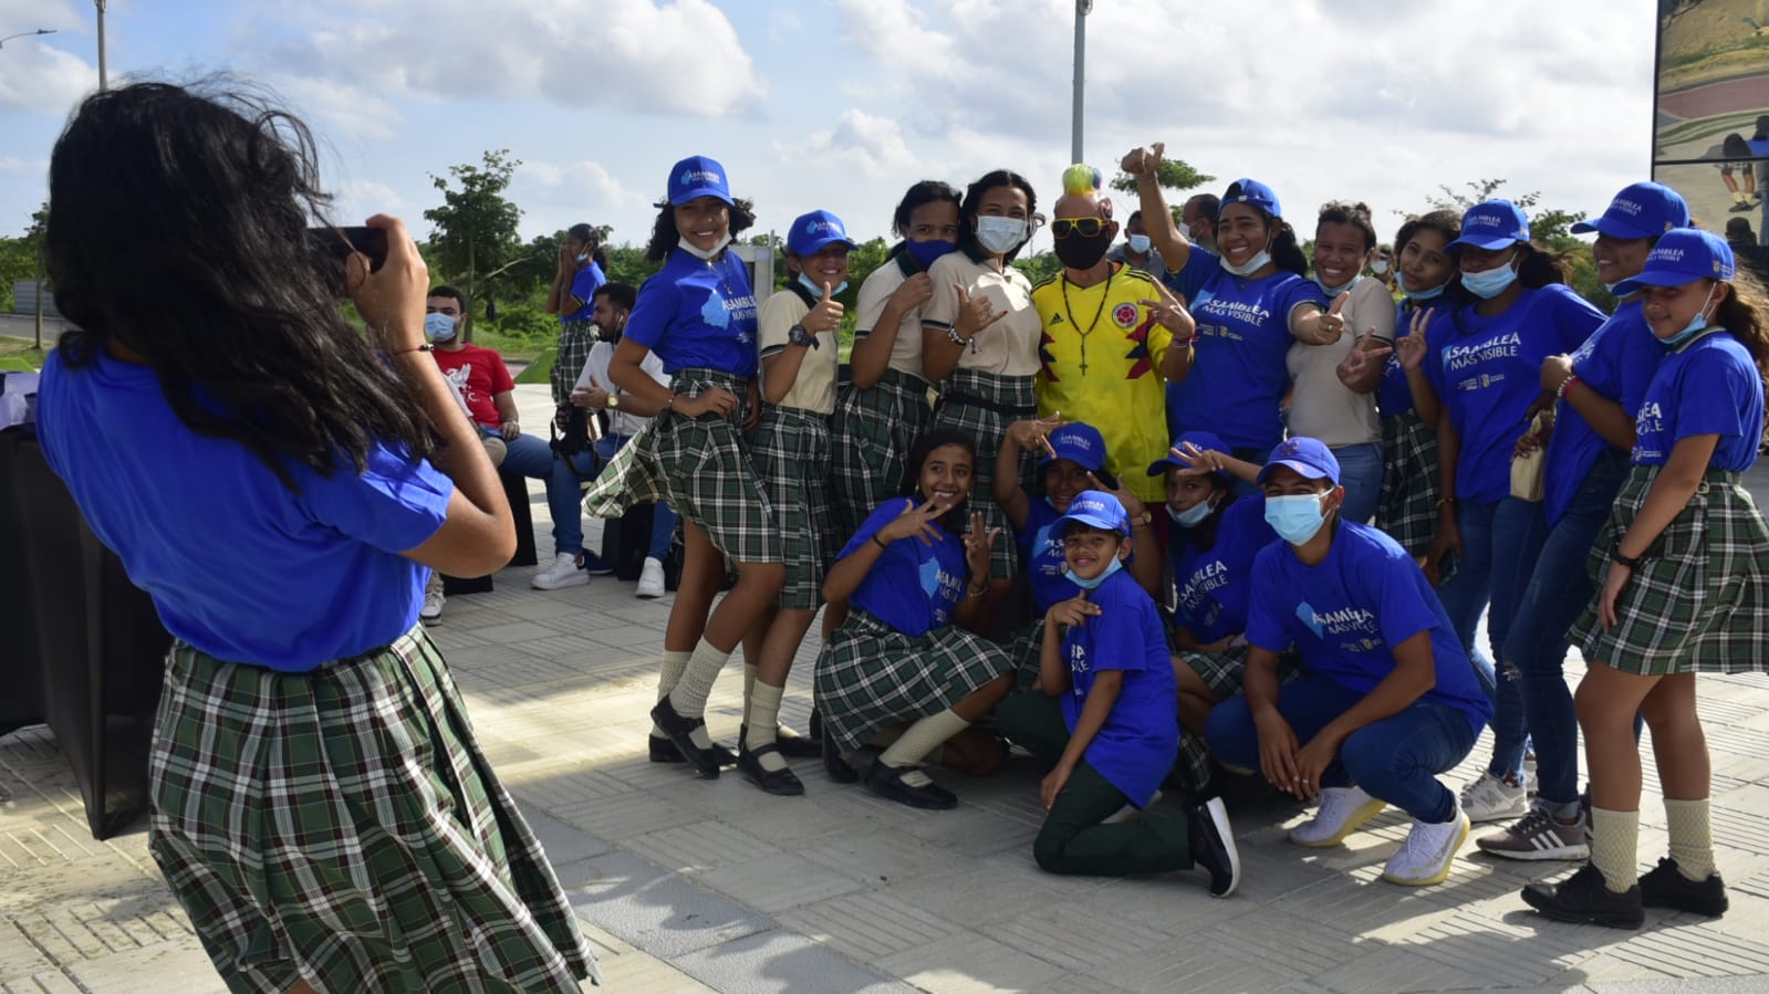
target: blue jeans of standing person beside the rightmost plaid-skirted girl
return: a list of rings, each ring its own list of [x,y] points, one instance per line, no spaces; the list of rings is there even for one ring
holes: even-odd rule
[[[1523,681],[1523,713],[1535,743],[1537,791],[1555,805],[1578,799],[1578,716],[1562,672],[1569,646],[1566,633],[1596,594],[1585,573],[1585,557],[1610,518],[1626,476],[1627,453],[1604,449],[1597,456],[1566,513],[1548,529],[1535,559],[1523,561],[1528,584],[1502,646],[1502,658],[1518,669]]]

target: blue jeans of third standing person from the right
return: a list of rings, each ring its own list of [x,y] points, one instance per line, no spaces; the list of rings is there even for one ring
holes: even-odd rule
[[[1463,502],[1456,506],[1461,532],[1461,559],[1456,573],[1438,587],[1438,600],[1449,614],[1456,638],[1468,651],[1482,690],[1493,700],[1493,776],[1516,776],[1528,752],[1528,727],[1523,716],[1523,683],[1511,667],[1493,667],[1493,660],[1474,640],[1474,630],[1486,610],[1486,640],[1500,656],[1511,633],[1511,617],[1528,582],[1525,571],[1535,561],[1546,529],[1541,506],[1505,497],[1497,504]]]

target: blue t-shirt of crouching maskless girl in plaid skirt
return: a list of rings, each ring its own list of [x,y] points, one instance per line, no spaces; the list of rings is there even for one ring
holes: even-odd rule
[[[879,504],[854,532],[854,538],[847,539],[837,559],[846,559],[872,541],[872,536],[902,515],[904,508],[915,508],[915,501],[893,497]],[[920,538],[906,538],[879,552],[867,578],[847,598],[849,603],[865,608],[872,617],[904,635],[927,635],[952,624],[952,612],[964,598],[968,577],[964,541],[946,529],[936,531],[939,541],[934,545],[927,545]]]

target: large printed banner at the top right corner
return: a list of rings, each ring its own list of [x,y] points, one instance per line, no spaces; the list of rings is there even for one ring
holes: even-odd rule
[[[1769,256],[1769,0],[1659,0],[1652,179]],[[1742,262],[1742,260],[1741,260]],[[1758,269],[1758,272],[1762,272]]]

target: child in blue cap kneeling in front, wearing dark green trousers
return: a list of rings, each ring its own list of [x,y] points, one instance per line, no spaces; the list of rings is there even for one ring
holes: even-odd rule
[[[1180,745],[1160,612],[1123,568],[1130,516],[1111,493],[1086,490],[1053,538],[1079,589],[1044,616],[1038,690],[996,707],[1001,734],[1054,764],[1040,785],[1049,815],[1033,856],[1053,874],[1164,874],[1201,863],[1210,893],[1228,897],[1240,856],[1221,798],[1192,805],[1183,821],[1106,821],[1125,805],[1148,807]]]

